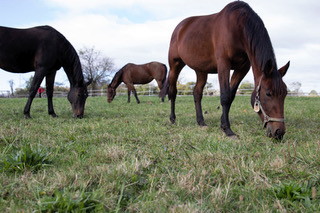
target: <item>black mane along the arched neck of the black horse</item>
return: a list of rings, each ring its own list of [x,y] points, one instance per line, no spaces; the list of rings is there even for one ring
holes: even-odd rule
[[[77,51],[72,44],[58,31],[56,31],[59,39],[59,51],[61,56],[62,67],[65,70],[71,86],[84,83],[81,62]]]

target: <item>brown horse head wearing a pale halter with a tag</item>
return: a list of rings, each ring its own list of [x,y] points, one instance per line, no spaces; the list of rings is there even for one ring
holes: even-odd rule
[[[287,87],[282,81],[290,62],[279,70],[273,70],[271,63],[265,66],[264,74],[251,96],[251,104],[263,121],[269,137],[281,140],[286,132],[284,123],[284,99]],[[267,69],[267,70],[266,70]]]

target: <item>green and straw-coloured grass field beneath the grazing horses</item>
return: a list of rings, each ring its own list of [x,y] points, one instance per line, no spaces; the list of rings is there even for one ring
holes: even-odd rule
[[[320,212],[320,98],[287,97],[287,133],[265,136],[249,97],[236,97],[220,130],[218,97],[89,97],[73,119],[66,98],[0,99],[0,212]]]

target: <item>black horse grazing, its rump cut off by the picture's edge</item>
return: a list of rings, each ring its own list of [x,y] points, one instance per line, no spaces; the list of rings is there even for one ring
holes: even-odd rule
[[[57,70],[63,67],[70,82],[68,100],[73,116],[82,118],[88,97],[80,60],[70,42],[50,26],[28,29],[0,27],[0,68],[12,73],[35,71],[28,101],[24,108],[25,118],[30,118],[30,107],[37,90],[46,77],[48,113],[56,117],[53,109],[53,84]]]

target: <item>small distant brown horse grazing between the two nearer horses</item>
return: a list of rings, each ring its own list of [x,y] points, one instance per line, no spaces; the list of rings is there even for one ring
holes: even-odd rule
[[[117,87],[123,82],[128,87],[128,102],[130,102],[130,94],[132,91],[137,103],[139,104],[140,100],[138,99],[134,84],[148,84],[155,79],[159,89],[161,90],[166,80],[166,76],[167,67],[159,62],[150,62],[142,65],[132,63],[126,64],[115,74],[108,86],[108,102],[110,103],[114,99]],[[162,101],[163,100],[164,97],[162,98]]]

